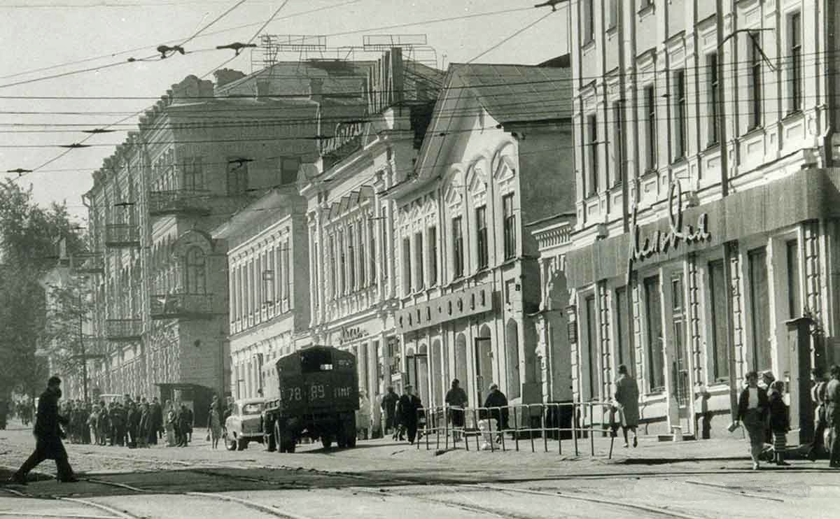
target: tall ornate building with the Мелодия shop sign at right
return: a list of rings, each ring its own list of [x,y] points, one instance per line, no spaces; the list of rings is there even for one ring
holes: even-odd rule
[[[701,412],[730,412],[747,371],[773,370],[796,422],[840,325],[840,6],[581,0],[571,13],[575,399],[609,400],[626,364],[648,432],[688,434]],[[797,317],[806,340],[790,335]]]

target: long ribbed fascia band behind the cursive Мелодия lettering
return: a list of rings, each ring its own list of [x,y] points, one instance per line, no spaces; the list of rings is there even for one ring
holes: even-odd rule
[[[632,266],[628,265],[631,246],[636,248],[637,242],[631,233],[580,249],[573,248],[566,254],[569,285],[577,288],[596,280],[624,277],[628,268],[636,270],[644,265],[655,265],[795,223],[840,218],[840,169],[802,170],[764,186],[732,193],[715,202],[685,208],[681,215],[684,231],[688,226],[696,230],[701,218],[705,218],[707,238],[692,243],[685,239],[677,240],[644,259],[635,259]],[[643,248],[646,240],[666,236],[671,227],[669,216],[639,226],[638,247]]]

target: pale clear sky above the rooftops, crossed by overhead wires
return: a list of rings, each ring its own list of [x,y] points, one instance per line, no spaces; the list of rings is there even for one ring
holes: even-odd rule
[[[101,128],[126,118],[153,104],[185,76],[203,76],[215,70],[234,55],[231,50],[216,50],[216,45],[248,41],[283,2],[245,0],[184,45],[188,54],[128,62],[129,57],[155,55],[155,48],[164,42],[180,43],[236,3],[238,0],[0,0],[0,171],[35,169],[66,151],[58,145],[85,139],[87,134],[81,129]],[[440,68],[479,55],[476,63],[534,65],[565,54],[568,41],[566,8],[538,21],[550,9],[533,8],[534,3],[538,2],[288,0],[263,33],[324,34],[329,47],[361,45],[364,34],[426,34]],[[522,10],[486,14],[517,8]],[[470,15],[478,16],[429,23]],[[417,24],[386,28],[413,23]],[[243,25],[249,27],[240,27]],[[349,32],[355,34],[341,34]],[[117,54],[125,50],[133,52]],[[299,57],[281,55],[287,60]],[[370,59],[370,55],[360,55],[359,59],[363,58]],[[251,72],[249,52],[225,67]],[[32,81],[84,69],[92,70]],[[14,84],[21,81],[29,82]],[[137,117],[131,117],[114,127],[122,130],[118,133],[94,135],[86,143],[92,147],[71,149],[60,159],[18,178],[18,183],[31,186],[37,202],[66,202],[71,213],[83,218],[87,210],[81,195],[92,186],[92,171],[113,153],[113,144],[122,142],[126,131],[136,128],[136,122]]]

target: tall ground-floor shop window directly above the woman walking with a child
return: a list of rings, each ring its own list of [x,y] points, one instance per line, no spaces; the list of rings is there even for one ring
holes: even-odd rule
[[[770,305],[767,280],[767,250],[747,253],[749,266],[749,306],[753,325],[753,370],[772,368],[770,356]]]

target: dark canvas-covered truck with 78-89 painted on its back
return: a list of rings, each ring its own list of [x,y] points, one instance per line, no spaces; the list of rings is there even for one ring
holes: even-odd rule
[[[266,401],[263,432],[266,447],[294,453],[304,437],[356,446],[355,412],[359,409],[359,373],[354,354],[312,346],[277,360],[280,397]],[[273,432],[273,433],[272,433]]]

